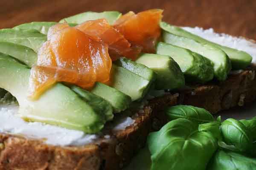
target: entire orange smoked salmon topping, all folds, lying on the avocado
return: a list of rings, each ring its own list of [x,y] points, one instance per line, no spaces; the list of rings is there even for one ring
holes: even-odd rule
[[[141,51],[152,53],[160,37],[163,10],[128,12],[114,26],[98,19],[70,27],[58,23],[49,28],[47,42],[38,51],[31,69],[30,98],[37,99],[56,82],[92,88],[95,82],[110,83],[112,60],[137,59]]]

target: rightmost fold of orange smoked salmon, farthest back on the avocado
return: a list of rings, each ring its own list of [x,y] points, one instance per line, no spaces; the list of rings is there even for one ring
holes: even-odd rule
[[[143,52],[154,53],[160,37],[160,21],[163,10],[151,9],[138,14],[128,12],[114,23],[116,28],[131,44],[141,46]]]

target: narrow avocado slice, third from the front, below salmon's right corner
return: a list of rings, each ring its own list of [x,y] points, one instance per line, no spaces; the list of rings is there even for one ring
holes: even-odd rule
[[[130,96],[101,82],[96,82],[90,92],[107,100],[112,105],[114,113],[124,111],[131,104]]]

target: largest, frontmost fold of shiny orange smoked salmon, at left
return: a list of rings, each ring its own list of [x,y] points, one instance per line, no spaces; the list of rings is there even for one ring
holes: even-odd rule
[[[91,88],[107,82],[112,60],[108,45],[93,40],[75,27],[57,24],[38,51],[38,63],[31,69],[30,98],[37,99],[55,82]]]

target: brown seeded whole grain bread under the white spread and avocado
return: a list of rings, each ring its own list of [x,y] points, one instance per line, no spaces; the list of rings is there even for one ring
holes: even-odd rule
[[[145,146],[148,133],[167,119],[163,109],[194,105],[211,113],[243,106],[256,98],[256,66],[231,74],[224,82],[190,85],[177,93],[151,99],[132,115],[135,123],[85,146],[51,146],[41,140],[0,133],[0,170],[119,170]]]

